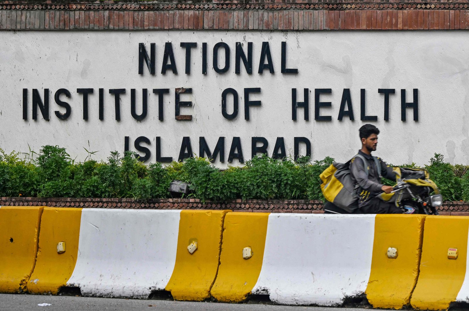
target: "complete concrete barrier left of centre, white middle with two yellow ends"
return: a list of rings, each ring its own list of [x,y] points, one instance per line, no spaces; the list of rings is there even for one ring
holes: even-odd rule
[[[45,208],[32,293],[79,287],[84,296],[209,296],[226,211]],[[188,245],[197,242],[192,254]],[[58,244],[65,242],[65,252]]]

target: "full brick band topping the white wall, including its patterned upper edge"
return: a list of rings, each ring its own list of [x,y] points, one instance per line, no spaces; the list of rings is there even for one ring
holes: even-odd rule
[[[469,0],[0,0],[0,30],[154,29],[469,29]]]

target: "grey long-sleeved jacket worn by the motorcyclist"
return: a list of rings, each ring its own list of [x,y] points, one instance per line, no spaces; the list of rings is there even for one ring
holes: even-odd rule
[[[350,161],[350,175],[354,185],[358,184],[357,194],[360,197],[358,206],[362,207],[366,205],[371,198],[383,192],[381,190],[383,184],[381,183],[381,177],[378,175],[378,170],[372,156],[363,153],[361,150],[358,151],[358,154],[362,155],[367,160],[367,163],[363,163],[363,160],[359,157],[354,157]],[[381,165],[382,177],[395,181],[396,174],[393,172],[393,168],[380,158],[378,158],[378,162],[379,165]],[[368,166],[368,176],[366,175],[365,164]]]

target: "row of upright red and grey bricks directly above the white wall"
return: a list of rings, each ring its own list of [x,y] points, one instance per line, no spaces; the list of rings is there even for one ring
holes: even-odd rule
[[[160,29],[469,29],[469,10],[0,10],[0,30]]]

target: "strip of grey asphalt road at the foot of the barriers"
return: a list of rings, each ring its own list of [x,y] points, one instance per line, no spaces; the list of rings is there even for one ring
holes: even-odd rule
[[[38,306],[38,304],[51,304]],[[271,304],[221,304],[76,296],[0,294],[0,311],[360,311],[367,309],[295,307]]]

